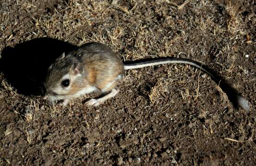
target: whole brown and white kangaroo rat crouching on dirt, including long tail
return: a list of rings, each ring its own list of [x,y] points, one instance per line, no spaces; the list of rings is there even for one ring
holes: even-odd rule
[[[98,99],[90,99],[86,102],[90,106],[98,106],[119,92],[117,84],[123,78],[125,70],[136,69],[161,64],[189,64],[206,72],[216,83],[221,83],[205,66],[191,59],[161,58],[151,59],[144,62],[123,64],[121,59],[109,47],[104,44],[93,42],[81,47],[62,53],[56,61],[50,65],[47,78],[44,83],[44,99],[52,103],[62,101],[62,105],[69,103],[80,95],[85,95],[100,90],[103,93],[110,92]],[[240,95],[227,88],[227,95],[244,110],[249,110],[248,102]],[[221,87],[222,88],[222,87]]]

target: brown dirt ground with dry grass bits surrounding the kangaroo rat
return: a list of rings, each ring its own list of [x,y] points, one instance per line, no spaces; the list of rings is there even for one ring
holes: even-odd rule
[[[43,101],[49,59],[90,41],[200,61],[250,111],[176,64],[126,71],[99,107]],[[0,165],[256,165],[255,0],[0,0],[0,58]]]

